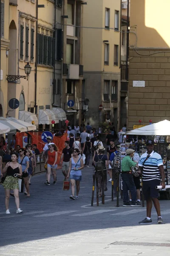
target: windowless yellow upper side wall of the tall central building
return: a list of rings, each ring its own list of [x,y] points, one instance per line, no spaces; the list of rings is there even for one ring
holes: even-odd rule
[[[103,1],[87,0],[83,7],[83,25],[88,27],[102,27]],[[84,70],[101,71],[102,65],[102,29],[82,29]]]

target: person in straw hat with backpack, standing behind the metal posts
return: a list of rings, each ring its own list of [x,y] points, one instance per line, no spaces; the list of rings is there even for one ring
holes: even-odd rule
[[[102,191],[102,171],[97,171],[97,162],[99,160],[102,160],[104,164],[103,169],[108,169],[108,157],[105,155],[105,148],[103,146],[98,147],[99,153],[95,155],[94,157],[94,164],[96,169],[96,175],[98,178],[98,187],[99,187],[99,197],[102,197],[101,191]],[[104,191],[107,191],[107,170],[104,171]]]

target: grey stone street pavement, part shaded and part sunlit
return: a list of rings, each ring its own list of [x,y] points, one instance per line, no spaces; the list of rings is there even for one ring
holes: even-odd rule
[[[45,174],[34,176],[31,197],[20,194],[20,215],[12,197],[11,214],[5,214],[0,186],[0,256],[170,255],[170,201],[160,201],[164,224],[157,224],[153,207],[153,224],[139,225],[146,209],[122,207],[121,199],[116,207],[110,182],[105,205],[91,207],[92,174],[93,168],[82,171],[79,199],[74,201],[69,198],[71,190],[62,190],[61,170],[57,185],[45,186]]]

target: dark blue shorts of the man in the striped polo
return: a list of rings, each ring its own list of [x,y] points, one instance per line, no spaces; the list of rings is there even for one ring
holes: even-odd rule
[[[144,198],[147,200],[149,198],[158,198],[159,189],[156,189],[156,186],[159,186],[161,180],[147,180],[143,181],[142,187],[144,192]]]

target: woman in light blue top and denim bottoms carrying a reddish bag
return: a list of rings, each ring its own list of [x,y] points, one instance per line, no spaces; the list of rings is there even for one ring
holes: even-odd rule
[[[70,165],[68,170],[67,179],[70,175],[71,181],[71,192],[72,195],[70,199],[75,200],[79,198],[79,189],[80,189],[80,181],[82,180],[82,169],[84,168],[84,163],[82,160],[81,154],[79,154],[79,149],[75,148],[73,151],[73,157],[70,158]],[[76,196],[74,197],[75,192],[75,183],[76,183]]]

